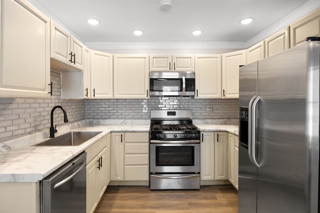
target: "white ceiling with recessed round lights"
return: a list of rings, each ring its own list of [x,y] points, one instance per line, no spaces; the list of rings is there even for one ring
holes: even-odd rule
[[[30,0],[84,42],[245,42],[307,0]],[[311,0],[314,1],[314,0]],[[41,9],[40,9],[41,10]],[[94,17],[100,24],[86,20]],[[253,17],[251,24],[240,19]],[[140,29],[141,36],[132,34]],[[203,33],[194,36],[191,31]]]

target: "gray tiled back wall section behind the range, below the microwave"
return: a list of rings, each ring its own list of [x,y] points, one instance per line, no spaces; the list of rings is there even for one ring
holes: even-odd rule
[[[212,108],[212,111],[207,111]],[[147,100],[86,100],[86,119],[149,119],[150,110],[191,109],[193,119],[238,119],[238,99],[153,97]]]

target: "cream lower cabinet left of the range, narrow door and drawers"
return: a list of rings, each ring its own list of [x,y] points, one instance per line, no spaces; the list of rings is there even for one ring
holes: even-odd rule
[[[149,133],[111,133],[111,181],[149,180]]]

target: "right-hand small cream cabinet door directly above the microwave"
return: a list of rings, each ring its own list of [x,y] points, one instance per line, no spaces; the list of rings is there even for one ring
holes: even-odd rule
[[[194,71],[194,55],[172,55],[173,71]]]

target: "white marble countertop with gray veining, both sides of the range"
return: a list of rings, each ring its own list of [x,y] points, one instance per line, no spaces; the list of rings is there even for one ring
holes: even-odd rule
[[[238,127],[220,124],[195,124],[201,131],[227,131],[237,135]],[[48,132],[35,133],[2,143],[0,150],[0,182],[38,182],[63,164],[86,150],[110,132],[148,132],[149,123],[77,123],[58,127],[55,136],[69,131],[102,131],[79,146],[35,147],[48,138]]]

